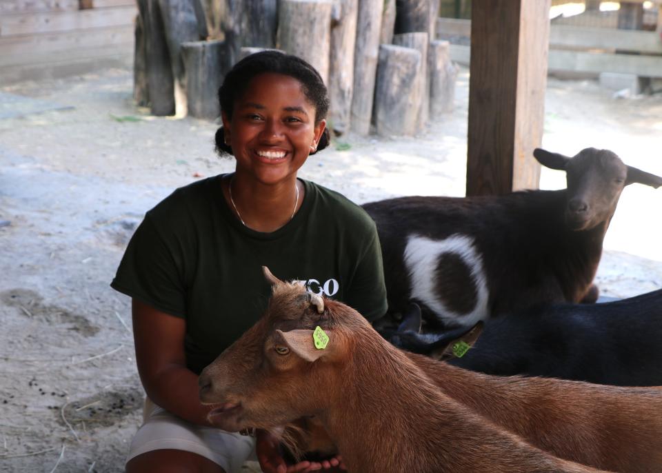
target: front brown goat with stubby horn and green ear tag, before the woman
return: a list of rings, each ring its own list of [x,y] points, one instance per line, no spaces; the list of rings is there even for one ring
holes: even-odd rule
[[[317,416],[350,472],[596,471],[443,394],[347,305],[265,273],[274,283],[265,316],[200,375],[201,401],[222,403],[210,413],[215,425],[270,429]],[[323,350],[313,344],[317,325],[330,337]]]

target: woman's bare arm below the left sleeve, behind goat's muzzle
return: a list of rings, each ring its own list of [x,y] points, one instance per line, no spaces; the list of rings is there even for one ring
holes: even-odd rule
[[[186,368],[186,321],[132,299],[138,372],[147,395],[186,421],[211,425],[210,406],[201,405],[198,375]]]

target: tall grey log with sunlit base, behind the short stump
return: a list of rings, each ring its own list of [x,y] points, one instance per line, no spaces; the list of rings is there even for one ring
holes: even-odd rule
[[[198,19],[191,0],[159,0],[165,39],[168,41],[170,65],[174,77],[175,113],[179,117],[186,114],[186,74],[181,58],[181,44],[198,41]]]

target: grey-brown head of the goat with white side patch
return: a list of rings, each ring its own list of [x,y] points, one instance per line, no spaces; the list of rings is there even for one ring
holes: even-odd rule
[[[662,178],[623,164],[609,150],[585,148],[574,157],[536,148],[534,157],[544,166],[564,170],[568,181],[565,221],[572,230],[590,230],[609,223],[625,185],[641,183],[658,188]]]

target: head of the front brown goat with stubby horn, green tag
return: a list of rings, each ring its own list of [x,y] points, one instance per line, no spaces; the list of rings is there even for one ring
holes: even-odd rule
[[[324,387],[332,383],[330,365],[348,352],[339,321],[345,327],[369,326],[347,306],[263,270],[273,284],[263,318],[199,378],[201,401],[221,404],[210,413],[210,421],[230,432],[270,429],[314,415],[323,402]],[[323,350],[314,347],[312,333],[318,325],[330,337]]]

